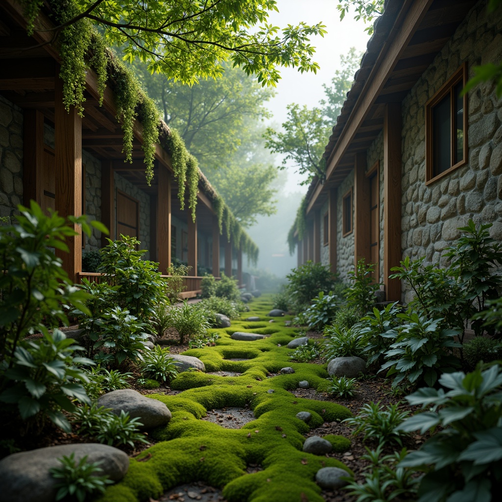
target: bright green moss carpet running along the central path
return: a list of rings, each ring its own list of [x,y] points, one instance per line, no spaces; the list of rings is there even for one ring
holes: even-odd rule
[[[323,422],[342,420],[351,415],[344,407],[330,402],[295,398],[289,390],[302,380],[311,388],[323,390],[326,365],[296,363],[287,344],[299,336],[285,325],[291,317],[271,318],[270,296],[249,304],[250,312],[232,322],[230,328],[213,330],[219,334],[216,346],[184,352],[201,359],[206,371],[237,371],[240,376],[217,376],[183,372],[171,388],[176,396],[150,395],[167,405],[172,420],[151,432],[158,441],[130,461],[129,472],[119,483],[107,488],[100,500],[138,502],[155,498],[179,484],[197,480],[223,488],[228,502],[322,502],[315,474],[321,467],[344,467],[338,460],[302,451],[304,433]],[[259,316],[260,321],[245,321]],[[269,321],[273,319],[274,322]],[[270,335],[263,340],[236,341],[235,331]],[[246,358],[231,361],[232,358]],[[292,374],[277,374],[291,366]],[[273,390],[274,392],[268,392]],[[253,409],[256,420],[241,429],[225,429],[200,420],[207,410],[225,407]],[[312,414],[308,424],[296,418],[300,411]],[[326,436],[336,451],[348,449],[350,442],[340,436]],[[248,464],[260,464],[262,471],[246,473]]]

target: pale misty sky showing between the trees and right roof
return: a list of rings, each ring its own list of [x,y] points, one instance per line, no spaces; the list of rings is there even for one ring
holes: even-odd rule
[[[274,128],[280,128],[287,118],[289,103],[306,104],[314,107],[324,97],[322,84],[329,84],[334,72],[339,68],[340,55],[345,55],[351,47],[365,51],[369,36],[364,31],[367,25],[355,21],[353,11],[340,22],[336,9],[337,0],[277,0],[279,13],[272,13],[269,22],[280,28],[288,24],[297,25],[304,21],[308,25],[319,22],[326,25],[328,33],[324,37],[312,37],[311,44],[316,47],[313,60],[319,63],[317,74],[300,73],[293,68],[281,69],[282,79],[277,84],[276,96],[269,101],[273,118],[268,122]],[[284,186],[286,193],[301,191],[306,193],[307,186],[298,185],[300,178],[294,174],[294,168],[288,170],[288,180]]]

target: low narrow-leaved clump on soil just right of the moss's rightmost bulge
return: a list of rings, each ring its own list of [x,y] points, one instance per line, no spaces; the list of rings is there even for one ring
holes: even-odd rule
[[[383,406],[378,403],[366,403],[355,417],[343,422],[355,427],[352,434],[362,434],[363,441],[378,441],[379,444],[397,443],[402,446],[402,438],[408,434],[400,426],[410,412],[399,409],[400,403]]]

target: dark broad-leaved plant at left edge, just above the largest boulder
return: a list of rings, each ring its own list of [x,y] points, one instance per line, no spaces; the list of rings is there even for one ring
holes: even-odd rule
[[[79,365],[94,364],[73,352],[82,349],[66,338],[62,331],[49,333],[42,329],[37,341],[22,341],[16,347],[11,367],[3,374],[4,390],[0,401],[14,405],[23,420],[44,425],[49,418],[65,432],[71,432],[66,416],[61,412],[75,410],[74,400],[90,403],[82,383],[87,383],[86,372]],[[79,382],[75,382],[79,381]]]

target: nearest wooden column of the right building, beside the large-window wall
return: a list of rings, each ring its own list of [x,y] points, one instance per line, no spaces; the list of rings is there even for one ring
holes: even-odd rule
[[[384,284],[387,301],[401,300],[401,281],[389,279],[401,253],[401,103],[384,114]]]

